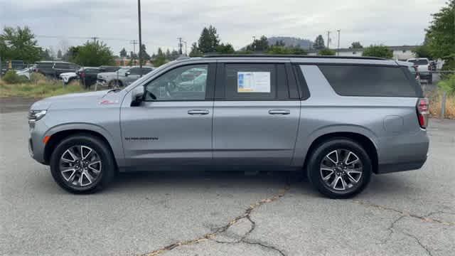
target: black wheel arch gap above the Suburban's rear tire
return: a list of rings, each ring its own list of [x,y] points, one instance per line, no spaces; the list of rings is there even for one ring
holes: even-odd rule
[[[313,153],[313,151],[322,144],[323,142],[326,142],[331,139],[335,138],[343,138],[343,139],[350,139],[353,140],[354,142],[357,142],[360,144],[360,146],[363,146],[363,149],[367,151],[367,154],[370,156],[370,159],[373,164],[373,173],[377,174],[378,173],[378,149],[375,146],[375,143],[373,140],[371,140],[369,137],[365,136],[364,134],[360,134],[358,132],[330,132],[326,134],[321,134],[319,137],[316,137],[314,139],[310,146],[309,149],[306,153],[305,159],[304,159],[304,170],[306,169],[306,164],[309,160],[309,157]]]

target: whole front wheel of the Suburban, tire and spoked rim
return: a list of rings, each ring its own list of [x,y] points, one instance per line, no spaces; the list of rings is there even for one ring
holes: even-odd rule
[[[50,157],[55,182],[70,193],[94,193],[115,174],[114,157],[97,137],[79,134],[63,139]]]

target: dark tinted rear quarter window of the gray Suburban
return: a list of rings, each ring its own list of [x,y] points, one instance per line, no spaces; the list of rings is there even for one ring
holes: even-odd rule
[[[407,68],[370,65],[319,65],[333,90],[342,96],[421,97]]]

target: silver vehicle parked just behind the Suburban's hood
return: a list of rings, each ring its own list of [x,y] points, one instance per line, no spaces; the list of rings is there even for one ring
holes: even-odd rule
[[[99,73],[97,75],[97,83],[100,86],[107,87],[124,87],[136,81],[141,75],[146,75],[153,68],[133,66],[123,67],[116,72]]]

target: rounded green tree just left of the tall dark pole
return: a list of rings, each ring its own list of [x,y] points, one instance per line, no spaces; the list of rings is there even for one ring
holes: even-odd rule
[[[114,65],[114,55],[105,43],[87,41],[83,46],[77,46],[77,52],[71,60],[84,66]]]

